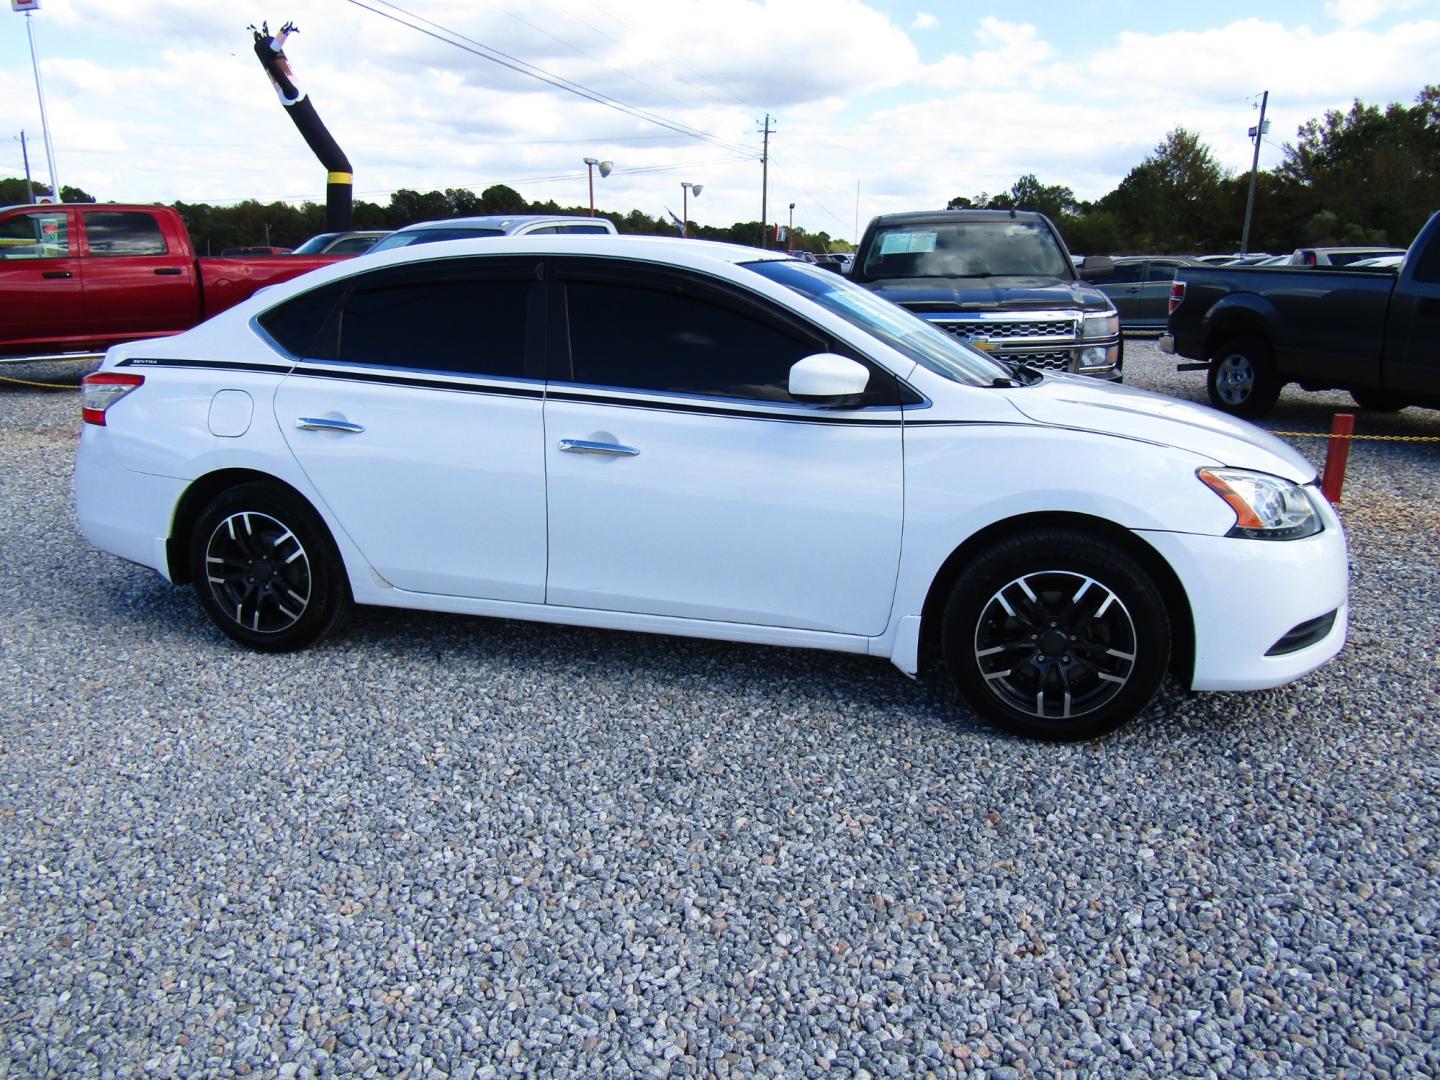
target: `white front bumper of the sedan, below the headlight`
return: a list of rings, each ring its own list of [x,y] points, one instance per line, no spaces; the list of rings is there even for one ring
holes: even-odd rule
[[[1140,533],[1175,569],[1189,598],[1195,628],[1191,690],[1293,683],[1345,645],[1345,533],[1328,504],[1320,513],[1325,530],[1305,540]],[[1329,612],[1336,615],[1328,634],[1303,648],[1267,655],[1296,626]]]

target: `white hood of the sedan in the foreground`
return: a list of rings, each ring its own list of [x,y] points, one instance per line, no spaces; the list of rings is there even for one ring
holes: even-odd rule
[[[1202,405],[1073,374],[1047,374],[1044,382],[1007,396],[1037,423],[1175,446],[1217,465],[1270,472],[1296,484],[1315,480],[1315,467],[1293,446]]]

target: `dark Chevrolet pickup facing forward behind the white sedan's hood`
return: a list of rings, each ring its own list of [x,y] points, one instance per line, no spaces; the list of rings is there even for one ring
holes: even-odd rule
[[[1112,261],[1090,256],[1090,274]],[[1120,379],[1120,318],[1081,281],[1040,213],[930,210],[876,217],[851,281],[1007,363]]]

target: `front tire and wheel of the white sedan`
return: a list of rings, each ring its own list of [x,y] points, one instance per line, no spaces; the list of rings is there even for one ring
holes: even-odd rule
[[[1071,742],[1113,732],[1151,703],[1169,665],[1171,624],[1153,579],[1123,549],[1041,530],[1002,540],[960,572],[940,652],[992,724]]]

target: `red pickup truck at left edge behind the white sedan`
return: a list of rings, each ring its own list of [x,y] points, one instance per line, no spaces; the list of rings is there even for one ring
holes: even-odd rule
[[[0,210],[0,357],[99,351],[189,330],[327,255],[197,259],[168,206]]]

